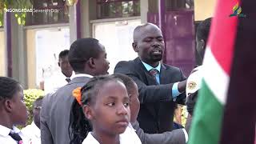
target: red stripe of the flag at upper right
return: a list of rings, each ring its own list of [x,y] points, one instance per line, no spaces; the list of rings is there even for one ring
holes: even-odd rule
[[[233,58],[234,41],[238,18],[230,18],[233,13],[233,6],[238,2],[218,1],[218,9],[215,10],[212,25],[210,27],[210,39],[207,43],[210,46],[217,62],[230,75],[230,66]]]

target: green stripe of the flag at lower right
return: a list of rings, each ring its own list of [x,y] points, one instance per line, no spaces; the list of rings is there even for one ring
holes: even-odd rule
[[[223,106],[202,80],[190,130],[190,144],[217,144],[222,126]]]

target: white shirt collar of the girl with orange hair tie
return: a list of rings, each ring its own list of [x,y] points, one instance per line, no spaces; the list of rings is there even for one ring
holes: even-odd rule
[[[126,131],[120,134],[120,144],[142,144],[141,140],[138,138],[133,126],[129,123]],[[88,133],[86,139],[83,140],[82,144],[100,144],[91,132]]]

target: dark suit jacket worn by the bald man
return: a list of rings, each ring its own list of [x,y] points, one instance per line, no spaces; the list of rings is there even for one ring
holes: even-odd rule
[[[130,76],[138,85],[141,108],[138,122],[143,130],[149,134],[171,131],[174,119],[174,101],[172,86],[185,78],[182,71],[174,66],[162,64],[160,85],[156,86],[154,78],[146,70],[139,58],[129,62],[118,62],[114,73]],[[180,94],[176,102],[184,104],[186,93]]]

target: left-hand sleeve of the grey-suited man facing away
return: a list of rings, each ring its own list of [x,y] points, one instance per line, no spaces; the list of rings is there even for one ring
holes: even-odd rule
[[[47,103],[50,103],[48,100],[49,98],[50,94],[47,94],[45,98],[42,99],[42,110],[40,112],[40,130],[42,144],[54,144],[54,140],[46,122],[46,119],[49,118],[49,111],[47,110]]]

